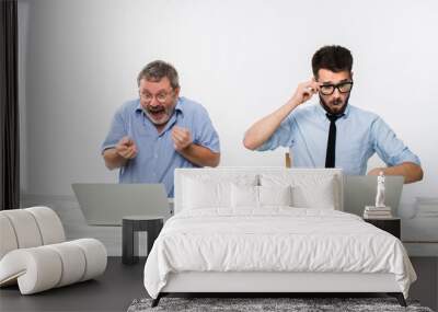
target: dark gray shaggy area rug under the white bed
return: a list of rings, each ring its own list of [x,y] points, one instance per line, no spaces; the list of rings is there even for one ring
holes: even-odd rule
[[[136,299],[128,312],[146,311],[415,311],[433,312],[417,301],[401,307],[394,298],[162,298],[155,308],[152,299]]]

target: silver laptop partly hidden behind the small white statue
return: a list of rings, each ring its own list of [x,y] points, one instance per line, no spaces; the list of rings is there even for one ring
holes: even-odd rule
[[[391,207],[393,216],[397,216],[403,182],[403,176],[385,176],[384,205]],[[374,206],[376,194],[377,176],[344,175],[344,211],[362,216],[365,206]]]

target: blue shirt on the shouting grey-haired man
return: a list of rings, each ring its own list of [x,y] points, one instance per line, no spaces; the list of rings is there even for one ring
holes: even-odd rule
[[[195,145],[219,152],[219,137],[207,111],[198,103],[180,97],[175,111],[158,134],[155,126],[145,114],[139,100],[125,103],[114,115],[110,132],[102,145],[104,150],[114,148],[125,136],[138,148],[135,159],[119,170],[119,183],[163,183],[169,197],[173,197],[173,172],[175,167],[196,167],[175,151],[172,140],[174,126],[186,128]]]

